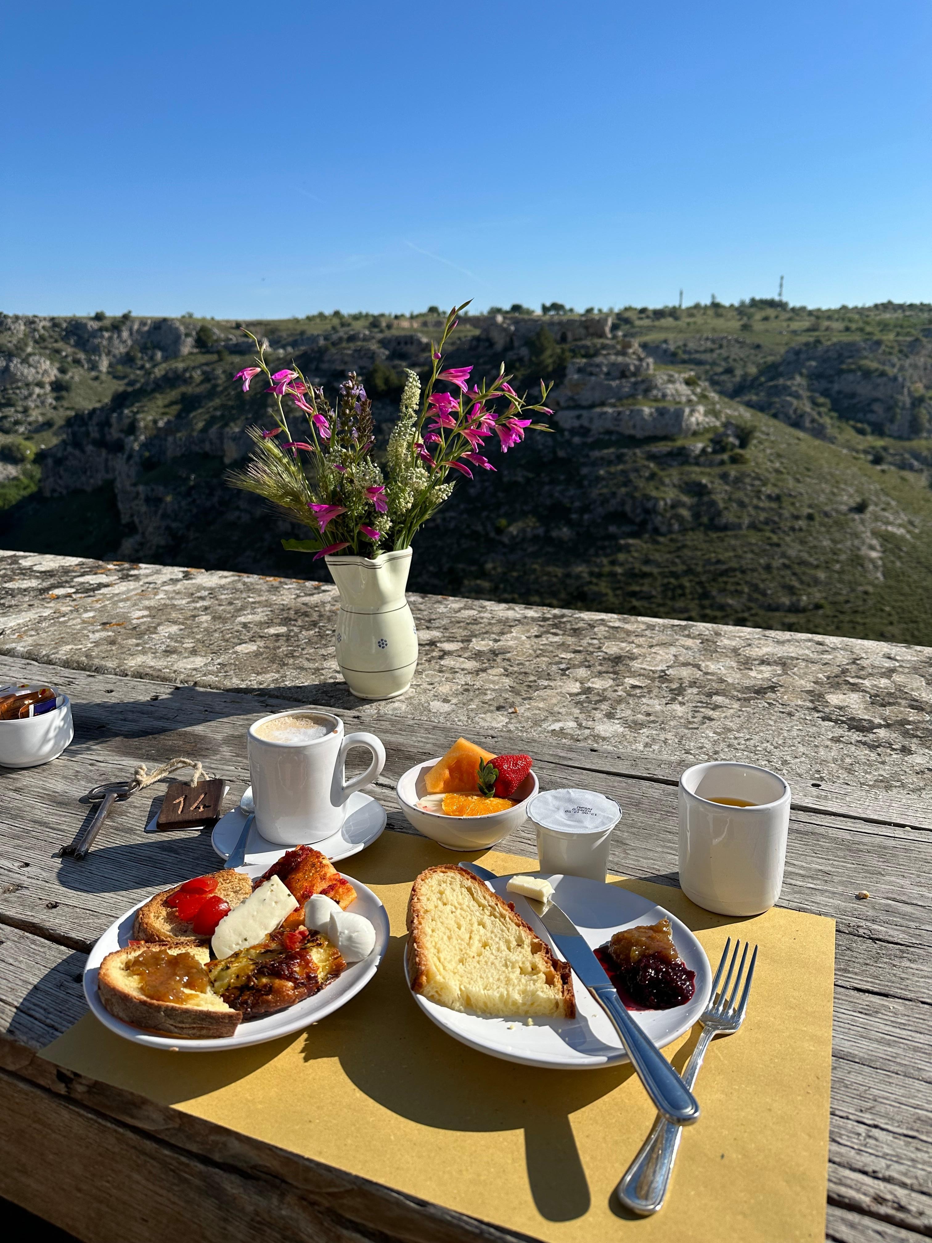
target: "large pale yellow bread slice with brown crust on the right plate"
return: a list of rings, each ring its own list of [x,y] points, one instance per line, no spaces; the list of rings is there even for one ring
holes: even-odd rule
[[[427,868],[408,902],[411,988],[447,1009],[498,1018],[574,1018],[569,963],[511,904],[454,864]]]

